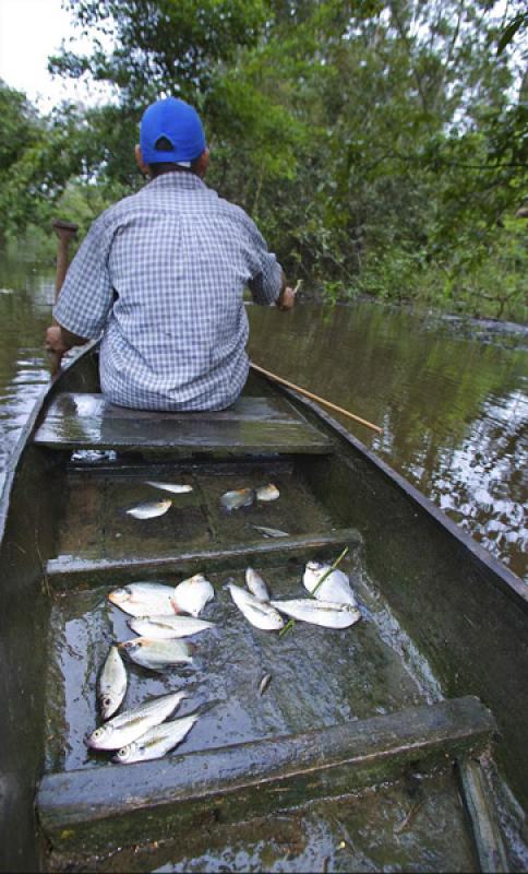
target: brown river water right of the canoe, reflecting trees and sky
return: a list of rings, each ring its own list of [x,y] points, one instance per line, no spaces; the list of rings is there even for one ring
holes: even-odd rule
[[[250,311],[254,361],[383,427],[345,427],[526,572],[527,356],[361,304]]]

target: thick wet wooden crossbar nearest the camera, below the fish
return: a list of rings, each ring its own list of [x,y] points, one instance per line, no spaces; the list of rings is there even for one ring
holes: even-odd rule
[[[491,742],[495,722],[472,697],[257,743],[132,766],[48,775],[40,824],[53,848],[103,850],[350,793],[448,765]]]

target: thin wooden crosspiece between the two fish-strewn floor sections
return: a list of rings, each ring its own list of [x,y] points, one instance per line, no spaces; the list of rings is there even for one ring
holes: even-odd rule
[[[119,558],[119,559],[69,559],[68,556],[52,558],[46,565],[48,583],[56,590],[74,588],[87,579],[92,584],[142,579],[184,571],[194,574],[207,570],[245,567],[250,562],[257,566],[276,562],[281,557],[317,557],[321,552],[335,552],[341,546],[357,547],[361,538],[353,528],[331,532],[317,532],[303,536],[262,539],[253,543],[233,544],[229,548],[196,550],[176,553],[160,558]]]

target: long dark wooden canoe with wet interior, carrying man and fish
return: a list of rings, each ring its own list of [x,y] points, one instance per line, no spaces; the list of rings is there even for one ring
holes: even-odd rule
[[[127,509],[160,496],[147,481],[193,491],[137,520]],[[277,500],[223,509],[268,482]],[[253,375],[224,412],[128,411],[86,349],[26,426],[0,534],[2,871],[526,861],[526,587],[311,402]],[[259,631],[223,588],[252,566],[299,598],[304,564],[345,547],[362,612],[346,630]],[[215,628],[192,668],[130,664],[123,705],[184,688],[195,728],[152,761],[88,751],[98,672],[133,637],[106,595],[199,571]]]

